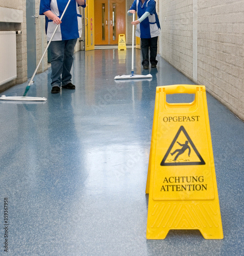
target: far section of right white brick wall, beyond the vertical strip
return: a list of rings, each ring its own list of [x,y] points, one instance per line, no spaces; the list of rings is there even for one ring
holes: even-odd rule
[[[179,71],[192,77],[192,1],[161,1],[159,5],[160,53]]]

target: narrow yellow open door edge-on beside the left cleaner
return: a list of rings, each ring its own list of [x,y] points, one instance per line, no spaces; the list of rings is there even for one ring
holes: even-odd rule
[[[85,8],[85,50],[94,50],[94,0],[86,0]]]

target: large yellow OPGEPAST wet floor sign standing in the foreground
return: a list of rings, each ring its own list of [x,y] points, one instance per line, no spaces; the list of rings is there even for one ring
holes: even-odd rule
[[[181,93],[194,101],[166,102]],[[157,87],[146,193],[147,239],[164,239],[170,229],[223,239],[204,86]]]

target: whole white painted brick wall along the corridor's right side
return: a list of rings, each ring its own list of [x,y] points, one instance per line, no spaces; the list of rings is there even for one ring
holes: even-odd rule
[[[160,53],[192,78],[194,0],[161,0]],[[198,0],[198,84],[244,120],[244,2]],[[197,12],[196,12],[197,11]],[[165,21],[166,17],[166,21]]]

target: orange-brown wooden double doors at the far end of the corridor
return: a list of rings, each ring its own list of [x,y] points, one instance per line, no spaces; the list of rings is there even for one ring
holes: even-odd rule
[[[95,45],[118,44],[126,33],[126,1],[94,0]]]

